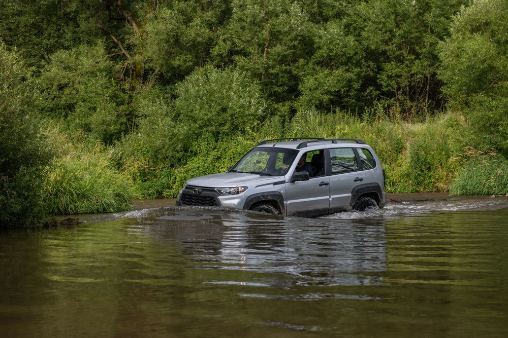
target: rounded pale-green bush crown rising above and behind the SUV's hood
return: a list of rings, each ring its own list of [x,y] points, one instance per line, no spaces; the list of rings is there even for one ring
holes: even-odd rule
[[[266,115],[259,85],[233,68],[199,68],[177,86],[176,94],[175,112],[193,140],[249,134]]]

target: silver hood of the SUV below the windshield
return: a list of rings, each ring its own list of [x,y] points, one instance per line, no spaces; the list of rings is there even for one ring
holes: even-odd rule
[[[187,185],[206,186],[206,187],[233,187],[244,184],[252,184],[253,182],[264,182],[280,180],[282,176],[264,176],[258,174],[248,174],[240,172],[221,172],[218,174],[211,174],[200,176],[187,180]]]

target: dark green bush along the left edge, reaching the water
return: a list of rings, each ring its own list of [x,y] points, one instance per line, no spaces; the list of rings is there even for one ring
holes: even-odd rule
[[[45,215],[44,171],[53,157],[30,108],[31,74],[0,41],[0,227],[29,226]]]

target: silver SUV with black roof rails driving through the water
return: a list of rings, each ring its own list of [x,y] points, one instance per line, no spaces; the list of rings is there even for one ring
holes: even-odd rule
[[[177,205],[315,217],[383,208],[385,172],[359,139],[265,140],[227,172],[189,179]]]

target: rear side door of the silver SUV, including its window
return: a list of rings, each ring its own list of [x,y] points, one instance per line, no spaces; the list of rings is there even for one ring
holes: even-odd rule
[[[359,171],[358,159],[351,147],[330,148],[330,212],[351,209],[351,192],[363,184],[364,174]]]

